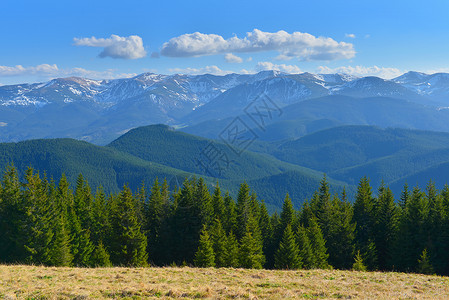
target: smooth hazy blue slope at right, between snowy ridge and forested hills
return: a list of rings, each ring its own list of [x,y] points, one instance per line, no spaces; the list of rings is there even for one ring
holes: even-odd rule
[[[375,125],[449,132],[449,111],[401,99],[353,98],[333,95],[305,100],[282,108],[282,114],[265,117],[259,130],[243,112],[239,116],[252,127],[260,140],[299,138],[318,130],[341,125]],[[217,138],[233,118],[208,120],[181,130]]]

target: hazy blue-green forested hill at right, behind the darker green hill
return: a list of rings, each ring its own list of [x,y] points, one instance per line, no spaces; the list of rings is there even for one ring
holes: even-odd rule
[[[449,133],[344,126],[283,143],[272,154],[350,184],[366,175],[377,186],[448,161]]]

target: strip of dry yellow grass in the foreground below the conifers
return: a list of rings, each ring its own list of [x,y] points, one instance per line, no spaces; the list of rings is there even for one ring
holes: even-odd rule
[[[0,266],[0,298],[449,299],[449,278],[336,270]]]

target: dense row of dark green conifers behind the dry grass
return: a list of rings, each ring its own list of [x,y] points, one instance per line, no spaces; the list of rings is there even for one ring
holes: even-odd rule
[[[299,199],[295,199],[298,201]],[[395,199],[360,180],[355,199],[326,177],[295,210],[269,215],[246,183],[233,199],[202,178],[106,195],[11,166],[0,183],[0,263],[48,266],[336,268],[449,274],[449,186],[404,186]]]

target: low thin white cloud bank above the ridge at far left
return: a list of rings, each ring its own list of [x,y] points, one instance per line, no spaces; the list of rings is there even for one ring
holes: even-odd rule
[[[114,79],[132,77],[135,75],[136,74],[134,73],[117,73],[114,69],[108,69],[105,71],[86,70],[84,68],[60,69],[55,64],[41,64],[30,67],[24,67],[22,65],[17,65],[14,67],[0,66],[0,77],[36,76],[42,79],[50,79],[55,77],[79,76],[92,79]]]

